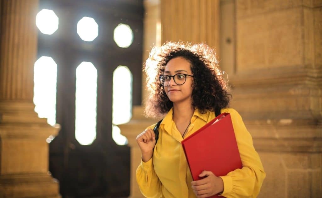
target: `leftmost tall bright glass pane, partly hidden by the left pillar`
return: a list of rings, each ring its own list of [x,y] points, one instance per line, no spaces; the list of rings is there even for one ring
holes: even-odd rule
[[[40,118],[56,123],[57,64],[48,56],[40,57],[34,65],[33,103]]]

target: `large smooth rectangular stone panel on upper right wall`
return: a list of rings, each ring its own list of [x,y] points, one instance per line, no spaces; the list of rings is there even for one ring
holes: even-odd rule
[[[303,10],[237,18],[237,71],[303,64]]]

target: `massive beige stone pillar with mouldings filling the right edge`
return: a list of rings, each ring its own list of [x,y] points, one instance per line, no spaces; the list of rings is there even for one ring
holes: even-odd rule
[[[236,1],[236,65],[225,68],[267,173],[259,197],[322,197],[321,6]]]

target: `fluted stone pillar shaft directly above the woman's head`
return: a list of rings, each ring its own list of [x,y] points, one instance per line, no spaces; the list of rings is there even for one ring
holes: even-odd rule
[[[162,43],[205,42],[219,52],[217,0],[161,0]]]

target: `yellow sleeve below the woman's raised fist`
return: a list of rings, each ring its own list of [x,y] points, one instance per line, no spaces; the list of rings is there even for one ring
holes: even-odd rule
[[[140,191],[145,197],[151,197],[151,198],[162,197],[162,190],[161,190],[162,184],[154,170],[153,156],[147,162],[143,162],[141,158],[141,164],[137,167],[137,171],[136,171],[136,179],[137,179],[137,184],[139,185]]]

